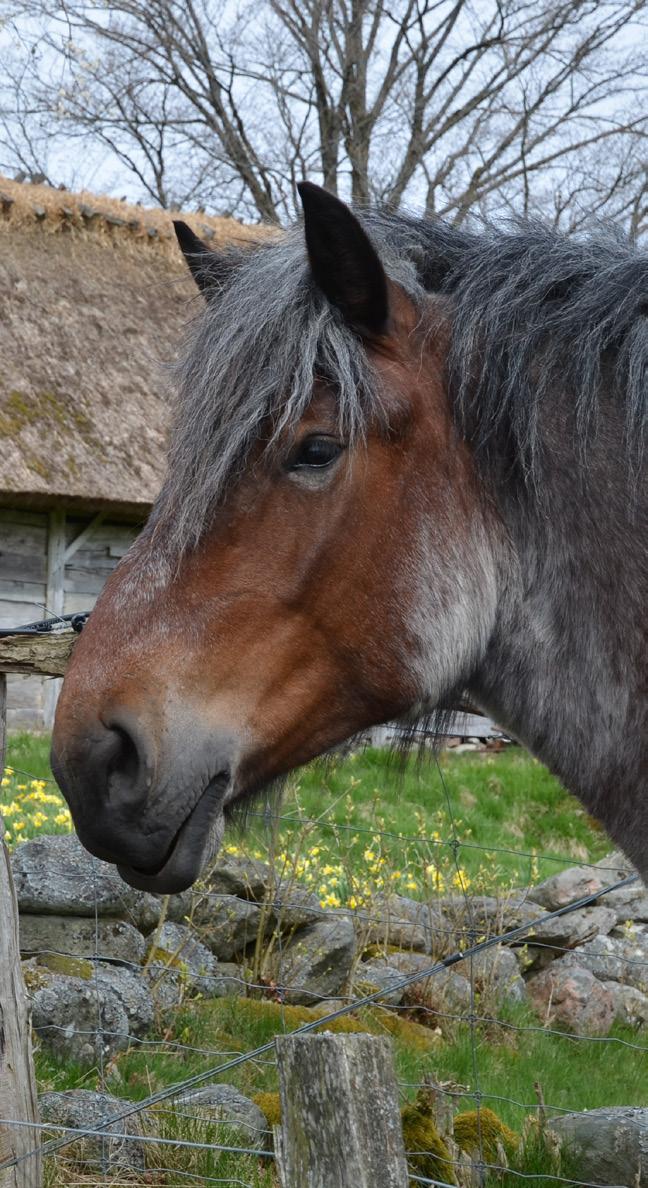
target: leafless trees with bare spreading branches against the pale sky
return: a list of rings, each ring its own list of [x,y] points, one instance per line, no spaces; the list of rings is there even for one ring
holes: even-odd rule
[[[163,206],[281,221],[310,176],[457,223],[643,228],[647,0],[21,2],[49,55],[31,119]]]

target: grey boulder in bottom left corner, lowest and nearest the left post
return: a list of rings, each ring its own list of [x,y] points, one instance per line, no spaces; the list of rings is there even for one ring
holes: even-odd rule
[[[87,1130],[119,1114],[126,1102],[109,1093],[93,1089],[67,1089],[64,1093],[42,1093],[38,1098],[40,1120],[57,1126]],[[105,1126],[107,1135],[80,1136],[69,1148],[69,1157],[99,1180],[101,1173],[111,1176],[119,1173],[143,1173],[145,1170],[144,1143],[137,1114]]]

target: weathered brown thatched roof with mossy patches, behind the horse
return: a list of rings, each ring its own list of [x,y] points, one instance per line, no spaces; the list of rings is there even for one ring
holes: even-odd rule
[[[182,217],[213,244],[263,234]],[[195,292],[166,211],[0,177],[0,501],[145,511]]]

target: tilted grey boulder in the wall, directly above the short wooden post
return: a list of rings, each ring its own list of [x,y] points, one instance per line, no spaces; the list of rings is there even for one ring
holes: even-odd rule
[[[307,1006],[334,998],[348,981],[356,956],[356,930],[348,915],[331,912],[277,946],[269,977],[287,1003]]]

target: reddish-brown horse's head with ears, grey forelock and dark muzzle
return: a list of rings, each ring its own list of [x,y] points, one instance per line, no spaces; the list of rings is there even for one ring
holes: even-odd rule
[[[340,201],[240,253],[178,240],[205,309],[169,470],[75,647],[52,762],[82,842],[178,891],[225,815],[483,653],[498,532],[445,385],[448,312]]]

